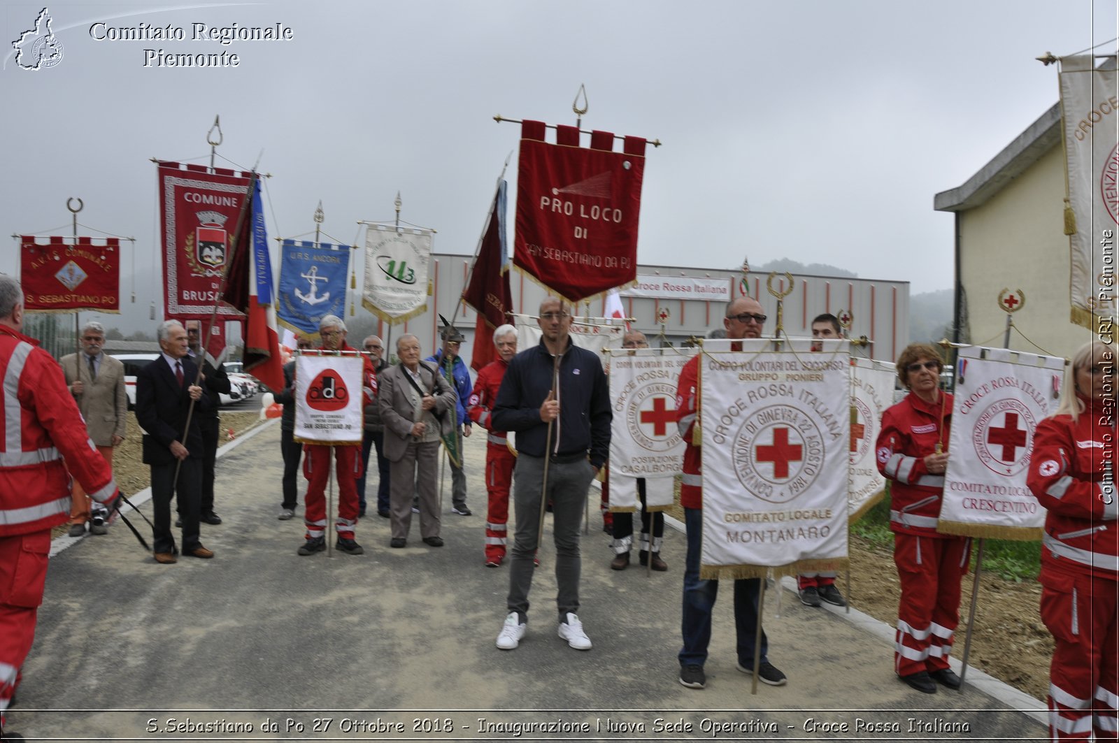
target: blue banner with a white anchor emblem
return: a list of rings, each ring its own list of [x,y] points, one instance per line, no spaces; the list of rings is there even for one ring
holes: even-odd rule
[[[349,245],[285,239],[280,248],[280,325],[317,336],[319,320],[346,313]]]

